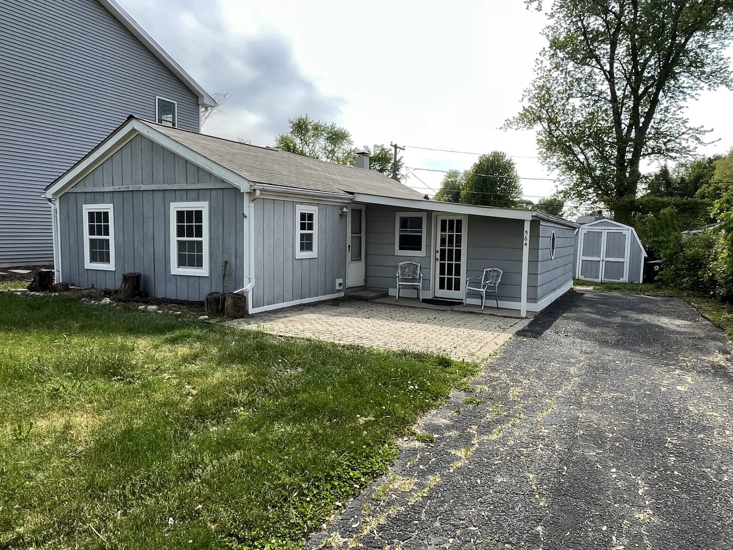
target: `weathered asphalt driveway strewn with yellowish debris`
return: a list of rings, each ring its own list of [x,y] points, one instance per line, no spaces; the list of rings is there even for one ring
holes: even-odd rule
[[[308,547],[731,549],[732,366],[676,298],[571,292]]]

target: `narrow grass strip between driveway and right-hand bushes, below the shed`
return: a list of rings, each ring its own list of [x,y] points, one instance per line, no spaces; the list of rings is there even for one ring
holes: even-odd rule
[[[656,285],[654,283],[636,282],[591,282],[575,279],[576,287],[594,287],[597,290],[611,292],[627,292],[633,294],[646,294],[647,296],[675,296],[682,298],[690,306],[697,309],[700,315],[719,329],[726,332],[728,340],[733,340],[733,307],[731,304],[723,304],[715,298],[708,298],[701,294],[682,292],[674,287]]]

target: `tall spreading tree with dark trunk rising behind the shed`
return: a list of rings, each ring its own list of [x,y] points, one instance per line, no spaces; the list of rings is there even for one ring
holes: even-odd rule
[[[537,129],[567,197],[628,221],[641,164],[683,158],[704,137],[685,102],[701,87],[731,86],[732,14],[733,0],[553,0],[548,46],[507,127]]]

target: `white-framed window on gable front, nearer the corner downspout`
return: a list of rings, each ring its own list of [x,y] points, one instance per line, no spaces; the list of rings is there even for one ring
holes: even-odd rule
[[[209,203],[171,203],[171,274],[209,276]]]

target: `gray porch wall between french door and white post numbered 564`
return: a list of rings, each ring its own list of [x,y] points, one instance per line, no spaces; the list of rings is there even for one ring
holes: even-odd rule
[[[480,277],[487,268],[504,271],[497,290],[498,301],[518,302],[522,297],[523,233],[523,220],[468,216],[466,271],[469,277]],[[531,293],[533,289],[528,290]],[[468,297],[479,295],[469,293]]]

